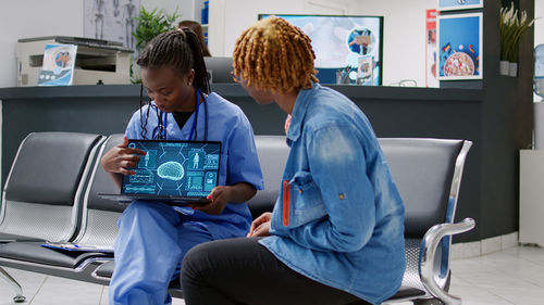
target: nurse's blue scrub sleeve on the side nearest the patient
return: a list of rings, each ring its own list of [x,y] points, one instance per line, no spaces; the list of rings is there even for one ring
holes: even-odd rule
[[[228,142],[228,167],[226,185],[246,182],[257,190],[264,188],[257,148],[255,147],[254,129],[245,115],[233,130]]]

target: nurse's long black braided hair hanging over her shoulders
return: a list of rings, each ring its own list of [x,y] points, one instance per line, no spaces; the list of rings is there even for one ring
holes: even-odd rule
[[[202,47],[198,36],[189,28],[159,34],[144,48],[136,63],[140,67],[148,69],[171,67],[180,77],[185,76],[193,68],[195,71],[195,80],[193,84],[197,92],[210,93],[210,77],[206,68]],[[144,120],[141,96],[143,87],[140,88],[140,124],[141,137],[145,139],[151,106],[147,107],[146,119]],[[148,102],[149,105],[151,101]],[[159,128],[164,128],[162,116],[158,110],[157,116]]]

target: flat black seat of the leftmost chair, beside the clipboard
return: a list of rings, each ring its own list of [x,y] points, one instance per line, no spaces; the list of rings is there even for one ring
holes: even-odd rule
[[[65,268],[76,268],[85,259],[108,257],[111,254],[53,250],[41,246],[42,242],[13,242],[0,245],[0,257]]]

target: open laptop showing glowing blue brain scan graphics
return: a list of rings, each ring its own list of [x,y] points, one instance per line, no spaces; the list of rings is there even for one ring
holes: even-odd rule
[[[182,140],[128,140],[146,152],[135,168],[123,175],[121,193],[99,193],[120,203],[162,201],[170,205],[207,204],[218,185],[221,142]]]

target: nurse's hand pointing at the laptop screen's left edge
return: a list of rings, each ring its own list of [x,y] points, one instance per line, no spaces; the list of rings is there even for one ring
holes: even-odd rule
[[[104,171],[133,175],[134,170],[128,168],[136,167],[140,155],[146,155],[146,152],[128,148],[128,139],[125,137],[123,143],[113,147],[102,156],[100,164]]]

